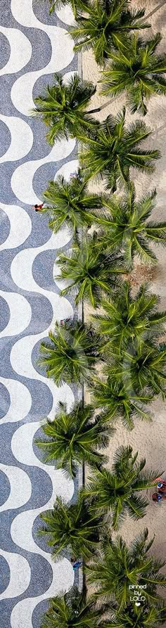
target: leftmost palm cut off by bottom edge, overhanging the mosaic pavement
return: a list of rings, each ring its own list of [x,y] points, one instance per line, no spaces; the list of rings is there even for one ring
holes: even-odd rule
[[[105,606],[96,606],[91,598],[86,600],[84,593],[74,587],[64,596],[51,598],[41,628],[98,628]]]

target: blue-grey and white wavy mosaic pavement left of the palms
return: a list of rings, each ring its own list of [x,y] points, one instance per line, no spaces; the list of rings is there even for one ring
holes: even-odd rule
[[[39,628],[48,598],[70,589],[67,556],[53,563],[37,536],[39,514],[56,495],[75,491],[61,470],[44,464],[34,444],[41,417],[75,390],[57,387],[37,365],[39,344],[55,320],[77,315],[53,281],[59,250],[71,233],[51,234],[32,205],[47,181],[77,168],[75,141],[50,148],[33,98],[53,72],[77,70],[70,8],[49,16],[46,0],[1,0],[0,8],[0,626]]]

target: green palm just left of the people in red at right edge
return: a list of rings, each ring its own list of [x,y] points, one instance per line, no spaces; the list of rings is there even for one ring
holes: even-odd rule
[[[146,515],[148,499],[138,492],[156,486],[155,478],[161,475],[158,471],[144,472],[146,459],[137,462],[137,456],[138,451],[132,455],[132,447],[119,447],[113,458],[112,471],[106,468],[94,470],[89,484],[83,489],[91,513],[112,512],[114,530],[118,530],[127,514],[135,520]]]

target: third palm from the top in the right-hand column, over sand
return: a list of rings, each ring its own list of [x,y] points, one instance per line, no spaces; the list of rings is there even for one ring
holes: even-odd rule
[[[147,174],[153,172],[153,160],[160,158],[159,150],[139,148],[150,134],[146,124],[139,120],[125,127],[125,107],[116,117],[108,115],[91,136],[79,134],[79,141],[87,146],[80,155],[86,177],[106,177],[108,187],[115,192],[117,182],[129,185],[130,167]]]

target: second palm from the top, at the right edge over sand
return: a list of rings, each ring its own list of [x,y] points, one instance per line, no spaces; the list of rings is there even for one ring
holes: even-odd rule
[[[148,41],[133,34],[125,49],[123,46],[112,53],[103,72],[101,94],[117,96],[125,91],[132,113],[139,110],[146,115],[145,99],[149,100],[153,94],[166,94],[166,54],[155,54],[161,39],[160,33]]]

